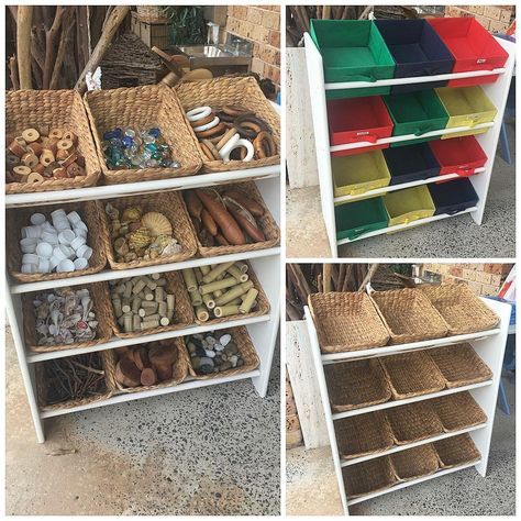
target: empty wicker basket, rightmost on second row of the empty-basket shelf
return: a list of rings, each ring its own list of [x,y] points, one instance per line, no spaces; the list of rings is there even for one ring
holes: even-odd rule
[[[429,351],[448,388],[468,386],[489,380],[492,372],[470,344],[456,344]]]

